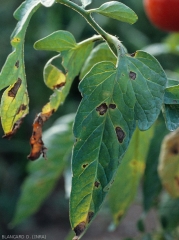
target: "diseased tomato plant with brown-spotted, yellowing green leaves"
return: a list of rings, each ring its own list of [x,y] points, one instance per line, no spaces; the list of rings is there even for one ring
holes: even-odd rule
[[[151,148],[156,147],[155,143],[150,145],[151,140],[161,138],[163,134],[161,113],[168,130],[179,127],[178,81],[169,79],[150,53],[141,50],[129,53],[117,36],[106,32],[93,18],[93,14],[98,14],[134,24],[136,13],[118,1],[90,9],[92,3],[93,0],[79,0],[78,3],[69,0],[24,1],[14,13],[18,23],[10,39],[12,53],[0,73],[0,89],[5,89],[0,105],[1,123],[4,138],[12,138],[29,113],[24,40],[33,14],[42,6],[64,5],[82,16],[97,34],[76,41],[71,32],[60,29],[34,44],[36,50],[55,52],[43,70],[44,83],[52,95],[34,116],[28,155],[32,160],[28,164],[29,175],[23,183],[11,221],[11,226],[16,226],[35,213],[64,169],[70,168],[69,215],[74,240],[83,236],[106,199],[117,226],[133,201],[145,171],[144,182],[148,185],[145,190],[156,185],[152,173],[153,166],[157,171],[158,162],[153,164],[147,159]],[[78,110],[60,118],[42,134],[46,121],[65,104],[77,77],[82,95]],[[164,141],[166,151],[160,156],[159,174],[167,191],[177,198],[179,147],[175,138],[172,134]],[[173,159],[172,166],[170,159]],[[168,172],[167,166],[172,171]],[[144,211],[147,212],[155,194],[148,198],[144,191],[144,195]],[[179,222],[178,215],[173,223],[169,211],[164,211],[170,204],[178,207],[178,201],[167,197],[163,202],[162,237],[165,228],[168,231]],[[169,219],[167,223],[166,219]]]

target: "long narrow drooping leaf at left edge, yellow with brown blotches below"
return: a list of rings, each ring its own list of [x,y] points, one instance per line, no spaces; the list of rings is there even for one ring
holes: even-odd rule
[[[43,0],[42,4],[51,6],[55,0]],[[29,21],[41,6],[40,0],[27,0],[15,11],[18,23],[11,35],[13,52],[9,54],[0,73],[0,90],[8,87],[1,100],[1,123],[5,137],[10,138],[20,127],[28,113],[29,98],[24,67],[24,39]]]

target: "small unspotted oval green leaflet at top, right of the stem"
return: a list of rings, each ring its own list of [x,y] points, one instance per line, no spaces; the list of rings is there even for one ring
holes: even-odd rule
[[[90,11],[130,24],[135,23],[138,19],[132,9],[117,1],[104,3],[99,8]]]

